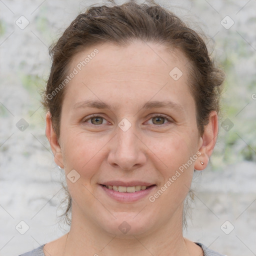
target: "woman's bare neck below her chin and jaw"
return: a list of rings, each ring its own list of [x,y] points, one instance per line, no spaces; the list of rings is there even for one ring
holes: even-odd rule
[[[161,223],[155,230],[143,234],[127,233],[125,236],[104,232],[88,219],[73,214],[63,256],[188,255],[182,236],[182,210],[181,205],[167,223]]]

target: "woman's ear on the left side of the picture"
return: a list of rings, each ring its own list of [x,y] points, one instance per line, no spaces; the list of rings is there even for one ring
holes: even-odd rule
[[[54,162],[61,168],[64,168],[61,148],[58,143],[56,132],[54,131],[54,129],[52,127],[51,114],[49,111],[46,113],[45,118],[46,118],[45,134],[46,134],[47,139],[49,140],[50,148],[54,155]]]

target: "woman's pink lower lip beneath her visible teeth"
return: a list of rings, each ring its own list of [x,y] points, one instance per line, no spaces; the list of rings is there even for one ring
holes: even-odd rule
[[[103,185],[100,185],[102,189],[105,191],[105,193],[110,196],[111,198],[121,201],[121,202],[134,202],[137,201],[145,196],[147,196],[154,188],[155,185],[152,185],[145,190],[136,191],[133,193],[127,193],[127,192],[118,192],[114,191],[112,189],[108,189]]]

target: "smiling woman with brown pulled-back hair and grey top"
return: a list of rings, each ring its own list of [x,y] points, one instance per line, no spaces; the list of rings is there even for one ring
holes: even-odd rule
[[[224,76],[201,37],[158,4],[129,1],[78,15],[51,54],[46,136],[71,225],[22,255],[220,255],[182,235]]]

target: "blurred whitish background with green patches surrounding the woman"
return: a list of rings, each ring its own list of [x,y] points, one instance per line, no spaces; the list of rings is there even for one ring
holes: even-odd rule
[[[256,1],[156,2],[206,33],[226,73],[217,144],[207,168],[195,173],[184,236],[226,255],[256,255]],[[64,177],[44,134],[40,91],[48,46],[96,3],[103,1],[0,0],[0,255],[19,255],[68,230],[57,217]]]

